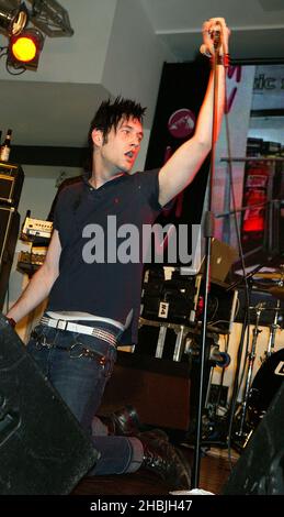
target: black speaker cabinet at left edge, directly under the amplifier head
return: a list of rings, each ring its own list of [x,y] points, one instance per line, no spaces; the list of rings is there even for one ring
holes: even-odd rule
[[[0,310],[4,304],[20,228],[20,216],[13,207],[0,206]]]

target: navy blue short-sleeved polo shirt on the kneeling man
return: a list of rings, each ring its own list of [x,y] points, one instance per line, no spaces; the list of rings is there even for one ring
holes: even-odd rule
[[[152,224],[161,210],[158,173],[124,174],[98,189],[84,178],[61,190],[54,218],[61,244],[59,276],[47,310],[84,311],[124,324],[133,309],[132,333],[125,332],[122,342],[137,342],[143,226]],[[137,253],[134,242],[139,242]],[[117,250],[132,261],[115,260]]]

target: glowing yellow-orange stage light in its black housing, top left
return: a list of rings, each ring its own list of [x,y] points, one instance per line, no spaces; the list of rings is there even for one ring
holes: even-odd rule
[[[44,36],[37,29],[25,29],[19,35],[10,37],[8,64],[14,68],[37,69]]]

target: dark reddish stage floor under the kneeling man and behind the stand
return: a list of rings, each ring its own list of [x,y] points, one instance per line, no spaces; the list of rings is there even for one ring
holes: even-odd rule
[[[192,449],[185,447],[179,449],[192,464]],[[232,462],[236,460],[237,455],[232,453]],[[229,465],[227,450],[202,450],[198,488],[216,495],[221,494],[230,473]],[[141,469],[134,474],[84,477],[73,490],[72,495],[168,495],[173,490],[155,473]]]

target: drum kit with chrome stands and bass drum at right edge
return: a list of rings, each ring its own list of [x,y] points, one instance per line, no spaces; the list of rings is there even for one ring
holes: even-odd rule
[[[275,279],[275,275],[271,276],[271,278]],[[265,290],[276,299],[275,306],[268,307],[265,301],[260,301],[254,307],[249,307],[250,311],[253,311],[255,319],[251,348],[247,354],[247,374],[242,403],[235,415],[234,435],[235,444],[238,446],[237,449],[243,449],[247,446],[284,380],[284,349],[274,350],[276,332],[282,328],[280,323],[283,321],[284,315],[283,304],[281,304],[284,300],[284,265],[280,266],[276,284],[273,286],[269,285]],[[261,360],[262,364],[252,380],[258,338],[262,331],[260,324],[263,311],[272,314],[272,322],[269,326],[269,341],[264,358]]]

